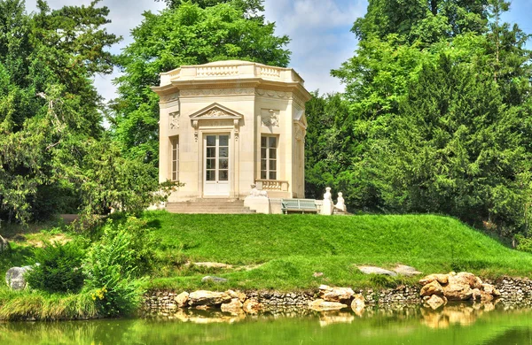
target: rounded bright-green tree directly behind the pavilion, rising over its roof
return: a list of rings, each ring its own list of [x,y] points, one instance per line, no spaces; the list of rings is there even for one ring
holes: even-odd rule
[[[187,2],[160,14],[145,13],[132,31],[135,41],[121,54],[124,74],[116,80],[120,97],[113,103],[114,138],[128,157],[157,165],[159,106],[150,87],[159,84],[159,73],[223,59],[288,64],[288,37],[274,35],[274,24],[249,17],[240,4],[201,8]]]

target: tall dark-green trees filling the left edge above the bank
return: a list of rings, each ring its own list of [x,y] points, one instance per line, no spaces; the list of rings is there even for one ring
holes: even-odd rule
[[[91,77],[112,72],[106,47],[119,38],[103,28],[108,10],[97,4],[51,11],[38,1],[38,11],[27,14],[20,0],[0,1],[3,219],[26,222],[50,196],[60,211],[62,193],[52,191],[72,187],[62,165],[66,156],[77,159],[74,142],[102,132]]]

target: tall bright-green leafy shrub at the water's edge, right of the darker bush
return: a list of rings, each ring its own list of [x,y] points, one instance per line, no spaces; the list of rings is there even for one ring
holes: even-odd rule
[[[94,289],[92,298],[104,315],[127,315],[137,309],[142,290],[141,280],[134,279],[151,265],[152,244],[145,223],[130,217],[118,226],[109,221],[100,242],[90,247],[83,265],[86,288]]]

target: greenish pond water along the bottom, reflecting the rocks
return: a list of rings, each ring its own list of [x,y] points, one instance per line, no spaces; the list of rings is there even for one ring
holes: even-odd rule
[[[3,323],[0,344],[532,344],[532,311],[451,306],[251,317],[194,311],[172,319]]]

